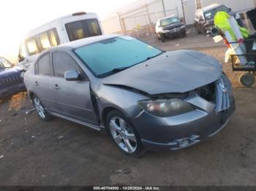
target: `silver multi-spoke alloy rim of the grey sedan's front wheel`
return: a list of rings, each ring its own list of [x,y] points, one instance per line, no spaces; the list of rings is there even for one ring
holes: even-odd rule
[[[121,117],[110,120],[110,133],[114,141],[124,152],[132,153],[137,149],[137,139],[132,128]]]

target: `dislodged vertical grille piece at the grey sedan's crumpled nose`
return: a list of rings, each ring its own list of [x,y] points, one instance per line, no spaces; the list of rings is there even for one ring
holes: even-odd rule
[[[230,98],[227,87],[222,77],[216,83],[217,100],[216,100],[216,112],[221,112],[230,107]]]

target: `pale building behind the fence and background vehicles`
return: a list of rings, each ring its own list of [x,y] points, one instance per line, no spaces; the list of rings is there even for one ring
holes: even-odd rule
[[[102,26],[105,34],[150,33],[159,18],[169,15],[177,15],[192,25],[196,9],[210,4],[225,4],[236,12],[243,12],[256,7],[256,0],[138,0],[111,13],[102,20]]]

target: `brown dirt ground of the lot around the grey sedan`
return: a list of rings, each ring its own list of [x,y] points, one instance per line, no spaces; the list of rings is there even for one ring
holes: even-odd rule
[[[223,61],[225,47],[192,36],[164,44],[165,50],[194,48]],[[179,44],[179,45],[176,45]],[[216,44],[214,44],[216,46]],[[125,156],[105,133],[55,118],[41,122],[26,93],[0,101],[0,185],[255,185],[256,89],[233,82],[236,113],[213,139],[177,152]]]

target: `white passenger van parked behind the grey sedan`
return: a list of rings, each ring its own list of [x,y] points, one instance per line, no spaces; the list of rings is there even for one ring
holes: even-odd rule
[[[59,17],[26,35],[20,44],[18,66],[27,70],[39,53],[49,47],[102,34],[102,26],[95,13],[76,12]]]

